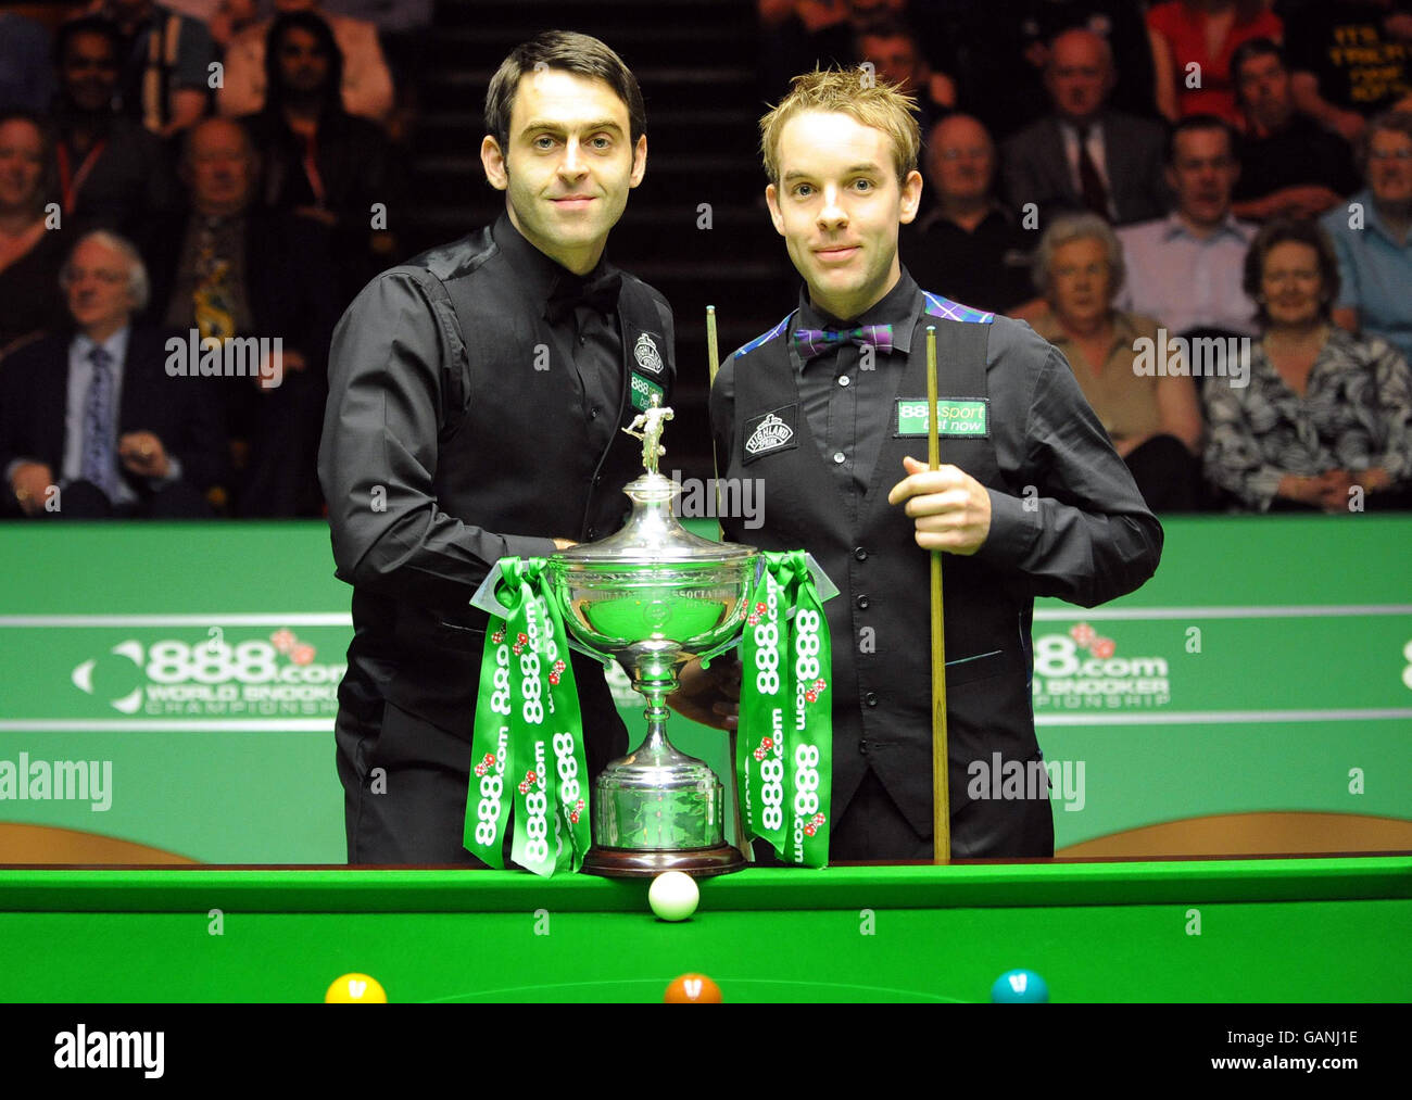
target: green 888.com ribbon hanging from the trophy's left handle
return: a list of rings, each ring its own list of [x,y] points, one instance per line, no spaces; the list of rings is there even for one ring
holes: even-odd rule
[[[508,614],[486,627],[463,839],[474,856],[504,867],[513,820],[510,857],[539,875],[578,871],[592,843],[579,692],[546,565],[500,561],[496,597]]]

